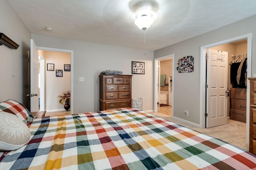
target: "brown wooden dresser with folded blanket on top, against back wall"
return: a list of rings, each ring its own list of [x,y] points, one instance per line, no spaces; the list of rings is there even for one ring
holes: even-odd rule
[[[100,76],[100,111],[131,107],[132,75]]]

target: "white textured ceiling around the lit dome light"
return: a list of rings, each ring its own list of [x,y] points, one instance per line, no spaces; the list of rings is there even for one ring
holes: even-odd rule
[[[256,0],[6,1],[31,33],[152,51],[256,15]],[[159,14],[146,29],[146,45],[130,21],[139,1],[155,3]]]

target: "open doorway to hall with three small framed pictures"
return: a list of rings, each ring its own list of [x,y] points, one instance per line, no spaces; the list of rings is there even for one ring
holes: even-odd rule
[[[73,91],[73,51],[47,47],[38,47],[38,51],[40,51],[40,59],[43,61],[40,60],[40,110],[44,109],[47,112],[65,111],[64,106],[59,104],[57,96],[64,91]],[[54,70],[49,70],[47,64],[53,65]],[[69,69],[65,69],[64,65],[69,65]],[[61,77],[57,76],[56,70],[62,70]],[[73,113],[72,102],[73,96],[71,94],[70,113]]]

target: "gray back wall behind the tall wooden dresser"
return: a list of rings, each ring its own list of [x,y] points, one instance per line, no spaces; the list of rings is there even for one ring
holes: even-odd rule
[[[32,34],[38,47],[74,51],[73,84],[74,113],[99,110],[99,77],[104,70],[120,70],[131,74],[132,61],[145,62],[145,74],[132,74],[132,98],[143,98],[144,110],[153,110],[153,51],[89,43],[71,39]],[[84,77],[84,82],[79,81]],[[55,97],[55,96],[54,96]],[[46,99],[47,100],[47,99]],[[57,98],[56,98],[57,100]]]

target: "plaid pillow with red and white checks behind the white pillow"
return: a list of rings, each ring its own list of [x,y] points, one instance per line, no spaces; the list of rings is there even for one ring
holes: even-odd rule
[[[0,103],[0,111],[18,116],[26,125],[30,124],[34,118],[23,104],[15,100],[6,100]]]

